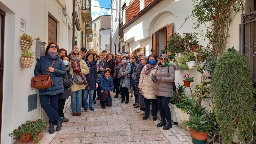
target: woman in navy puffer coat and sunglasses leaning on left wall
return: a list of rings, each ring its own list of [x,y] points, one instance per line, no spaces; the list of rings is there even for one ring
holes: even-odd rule
[[[67,74],[66,67],[59,57],[59,46],[56,43],[49,43],[46,47],[45,55],[41,56],[35,66],[34,74],[39,76],[50,73],[52,79],[52,86],[46,89],[40,89],[40,104],[49,117],[49,133],[54,133],[53,123],[57,123],[56,131],[62,127],[65,118],[58,114],[58,101],[61,93],[64,93],[64,86],[62,76]],[[53,66],[51,67],[52,63]]]

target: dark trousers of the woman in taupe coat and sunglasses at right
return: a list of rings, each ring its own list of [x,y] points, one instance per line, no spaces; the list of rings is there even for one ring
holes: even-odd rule
[[[159,106],[161,119],[171,120],[171,111],[169,108],[170,97],[157,96],[157,104]]]

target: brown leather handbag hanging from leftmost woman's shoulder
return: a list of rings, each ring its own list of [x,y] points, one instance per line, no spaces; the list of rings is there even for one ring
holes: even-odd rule
[[[53,66],[55,60],[52,62],[51,67]],[[31,79],[31,89],[34,87],[37,89],[46,89],[52,86],[52,80],[50,76],[50,71],[48,71],[48,74],[42,75],[42,72],[40,71],[39,76],[32,77]]]

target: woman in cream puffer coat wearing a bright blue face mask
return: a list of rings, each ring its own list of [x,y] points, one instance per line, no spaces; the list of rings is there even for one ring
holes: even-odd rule
[[[150,102],[152,103],[151,113],[153,120],[157,120],[157,98],[154,93],[155,82],[152,81],[151,76],[155,74],[157,66],[157,57],[154,54],[150,54],[146,66],[141,71],[139,88],[145,98],[145,115],[143,120],[149,118],[150,113]]]

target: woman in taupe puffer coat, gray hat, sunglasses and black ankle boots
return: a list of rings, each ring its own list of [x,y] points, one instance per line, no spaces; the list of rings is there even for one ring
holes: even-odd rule
[[[171,128],[171,111],[168,104],[170,97],[173,96],[172,82],[175,80],[175,70],[176,65],[168,61],[166,54],[162,54],[160,62],[157,65],[154,90],[161,116],[161,122],[157,124],[157,127],[163,126],[164,130]]]

